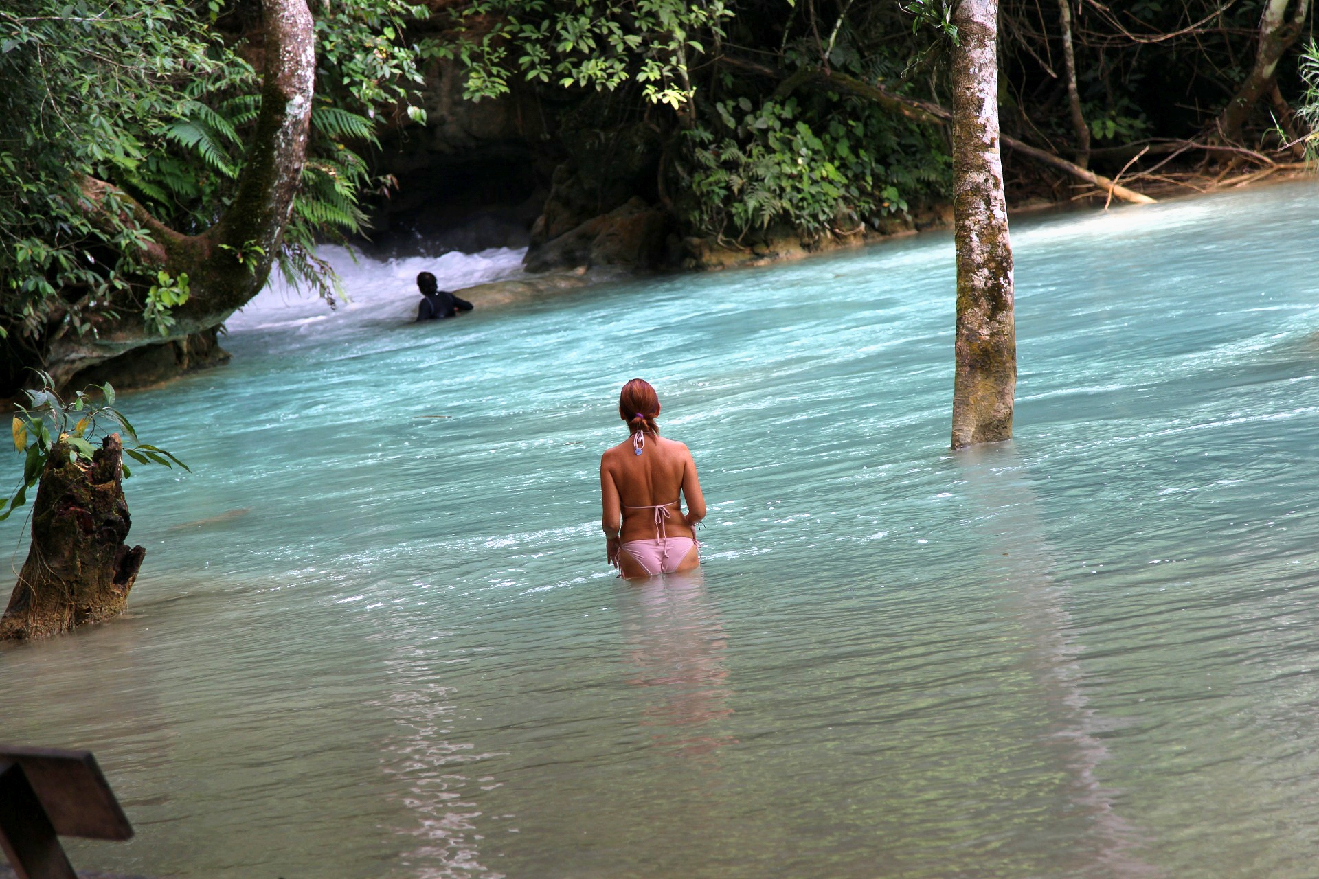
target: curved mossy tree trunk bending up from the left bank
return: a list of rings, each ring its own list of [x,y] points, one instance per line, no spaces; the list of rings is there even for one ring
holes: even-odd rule
[[[127,211],[152,235],[146,261],[175,277],[187,273],[190,297],[173,310],[175,323],[168,336],[148,328],[136,314],[98,322],[96,335],[57,333],[46,353],[46,372],[57,383],[133,348],[211,329],[265,286],[302,178],[317,59],[306,0],[264,0],[262,16],[261,111],[233,202],[215,225],[202,235],[181,235],[111,184],[83,182],[91,215]]]

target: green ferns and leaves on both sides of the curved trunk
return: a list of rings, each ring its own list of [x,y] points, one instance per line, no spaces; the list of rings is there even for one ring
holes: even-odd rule
[[[318,75],[302,188],[278,254],[294,285],[336,291],[317,241],[363,229],[359,198],[388,181],[359,154],[414,107],[412,41],[429,16],[402,0],[311,4]],[[233,196],[260,111],[243,7],[211,0],[9,0],[0,9],[0,333],[29,343],[95,332],[99,315],[141,312],[169,331],[170,285],[141,260],[150,235],[111,200],[92,223],[92,178],[121,187],[165,225],[210,228]],[[243,254],[240,254],[241,258]],[[251,256],[251,254],[247,254]],[[256,261],[244,260],[249,268]],[[195,282],[195,279],[194,279]]]

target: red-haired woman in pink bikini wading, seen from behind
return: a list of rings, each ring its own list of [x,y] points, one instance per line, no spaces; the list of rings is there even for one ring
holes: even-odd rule
[[[619,394],[619,416],[630,435],[600,457],[605,553],[629,580],[700,564],[692,528],[706,518],[706,498],[696,464],[686,445],[660,438],[658,414],[656,389],[640,378],[629,381]]]

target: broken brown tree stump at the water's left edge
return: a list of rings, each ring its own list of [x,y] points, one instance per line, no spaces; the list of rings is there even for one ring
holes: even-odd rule
[[[124,539],[124,449],[111,434],[91,464],[57,443],[37,486],[32,548],[0,617],[0,640],[46,638],[123,613],[146,550]]]

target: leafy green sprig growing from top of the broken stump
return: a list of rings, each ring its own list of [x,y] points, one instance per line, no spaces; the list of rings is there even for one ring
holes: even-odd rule
[[[69,451],[71,463],[88,465],[96,452],[94,443],[107,435],[107,428],[123,431],[133,443],[124,445],[124,453],[138,464],[162,464],[169,468],[178,464],[185,470],[189,469],[165,449],[137,440],[133,426],[115,409],[115,389],[109,382],[88,385],[77,391],[73,399],[65,401],[53,387],[50,376],[41,372],[37,376],[41,390],[25,391],[28,406],[15,407],[18,414],[13,416],[13,448],[24,455],[22,478],[8,503],[0,505],[4,506],[0,519],[8,519],[11,513],[26,503],[28,489],[41,481],[46,461],[59,444]],[[124,476],[131,476],[128,465],[123,467]]]

